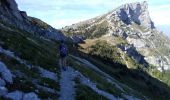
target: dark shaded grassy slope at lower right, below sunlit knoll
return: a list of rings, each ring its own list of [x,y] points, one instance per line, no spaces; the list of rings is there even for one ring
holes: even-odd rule
[[[111,65],[108,63],[106,64],[96,57],[93,58],[88,56],[87,59],[102,71],[116,78],[120,83],[126,84],[132,89],[142,93],[146,97],[149,97],[151,100],[164,100],[165,98],[170,98],[170,88],[165,83],[152,78],[146,72],[140,71],[138,69],[127,69],[123,66],[115,67],[113,63]],[[129,91],[127,88],[124,89],[129,94],[134,94],[136,97],[143,98],[138,93]],[[158,96],[155,97],[155,95]]]

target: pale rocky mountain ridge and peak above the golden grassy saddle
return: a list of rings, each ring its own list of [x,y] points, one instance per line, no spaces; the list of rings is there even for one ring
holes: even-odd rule
[[[127,41],[129,46],[131,45],[128,50],[133,52],[135,49],[144,56],[143,60],[137,58],[137,62],[146,61],[157,66],[160,71],[162,71],[162,66],[166,70],[170,69],[168,67],[170,66],[168,61],[170,58],[167,56],[169,54],[169,39],[155,28],[146,1],[122,5],[102,16],[65,27],[62,31],[72,38],[79,37],[78,39],[75,38],[75,41],[88,38],[121,37]],[[124,47],[126,48],[125,45]],[[161,48],[166,51],[163,49],[161,51]],[[149,49],[152,49],[155,53],[167,52],[167,54],[158,57],[159,55],[152,54]],[[137,57],[133,54],[130,54],[130,56]],[[162,62],[162,65],[160,65],[160,62]]]

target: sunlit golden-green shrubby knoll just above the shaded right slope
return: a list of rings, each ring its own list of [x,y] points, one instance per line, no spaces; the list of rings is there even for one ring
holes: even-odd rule
[[[124,42],[120,42],[120,43],[124,44]],[[85,44],[82,44],[80,46],[83,45]],[[123,51],[121,51],[116,44],[110,45],[108,42],[104,40],[97,40],[92,45],[89,45],[86,48],[82,48],[82,49],[81,49],[82,51],[88,53],[89,55],[101,58],[107,62],[114,62],[117,64],[128,65],[129,68],[137,68],[138,66],[140,66],[136,63],[134,59],[132,59]]]

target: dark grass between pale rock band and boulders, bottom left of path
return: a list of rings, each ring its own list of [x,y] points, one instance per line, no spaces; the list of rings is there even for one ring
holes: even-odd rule
[[[9,91],[20,90],[25,93],[37,93],[35,90],[38,90],[39,92],[37,94],[42,99],[58,97],[58,94],[50,94],[41,89],[37,89],[35,84],[32,83],[33,80],[37,80],[39,85],[44,86],[45,83],[47,84],[45,85],[45,87],[49,87],[55,89],[56,91],[59,91],[59,83],[51,79],[42,78],[39,75],[37,68],[29,69],[26,66],[17,62],[15,59],[5,56],[4,54],[0,54],[0,59],[7,65],[7,67],[11,70],[13,74],[16,73],[15,71],[19,71],[24,74],[23,76],[17,76],[13,78],[13,84],[7,84],[7,88]]]

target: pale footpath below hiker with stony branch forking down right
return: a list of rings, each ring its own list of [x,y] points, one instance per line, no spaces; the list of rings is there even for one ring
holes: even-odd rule
[[[90,87],[93,91],[106,97],[108,100],[118,100],[115,96],[110,93],[107,93],[103,90],[97,88],[96,83],[93,83],[88,78],[84,77],[80,72],[74,70],[71,67],[68,67],[66,71],[61,71],[60,79],[60,97],[59,100],[75,100],[75,82],[74,78],[80,76],[81,84],[84,84]]]

